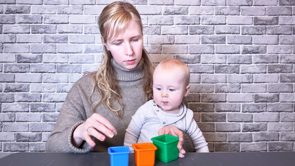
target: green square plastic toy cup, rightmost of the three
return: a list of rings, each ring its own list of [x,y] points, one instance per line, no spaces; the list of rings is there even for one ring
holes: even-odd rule
[[[155,159],[168,163],[178,158],[178,137],[164,134],[151,138],[153,144],[158,148],[155,151]]]

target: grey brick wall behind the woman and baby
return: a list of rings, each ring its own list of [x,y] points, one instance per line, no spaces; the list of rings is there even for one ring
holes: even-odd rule
[[[153,62],[189,65],[210,151],[295,150],[294,0],[130,2]],[[0,158],[46,151],[66,93],[99,66],[107,3],[0,0]]]

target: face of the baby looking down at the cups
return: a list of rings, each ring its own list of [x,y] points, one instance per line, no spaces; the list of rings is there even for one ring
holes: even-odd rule
[[[153,99],[163,111],[178,113],[182,98],[187,95],[184,71],[181,68],[155,68],[153,73]]]

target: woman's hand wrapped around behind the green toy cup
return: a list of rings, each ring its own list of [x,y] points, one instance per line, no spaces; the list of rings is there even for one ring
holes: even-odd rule
[[[179,138],[178,141],[178,149],[179,149],[179,157],[184,158],[185,150],[182,148],[182,142],[183,142],[183,133],[180,129],[178,129],[175,126],[166,126],[163,127],[158,131],[159,136],[163,134],[169,134],[171,136],[177,136]]]

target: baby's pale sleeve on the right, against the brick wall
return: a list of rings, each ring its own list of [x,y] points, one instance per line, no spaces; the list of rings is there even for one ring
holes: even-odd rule
[[[193,146],[196,152],[209,152],[208,143],[206,142],[202,131],[198,127],[196,120],[193,119],[193,111],[187,109],[187,134],[191,137],[193,141]]]

